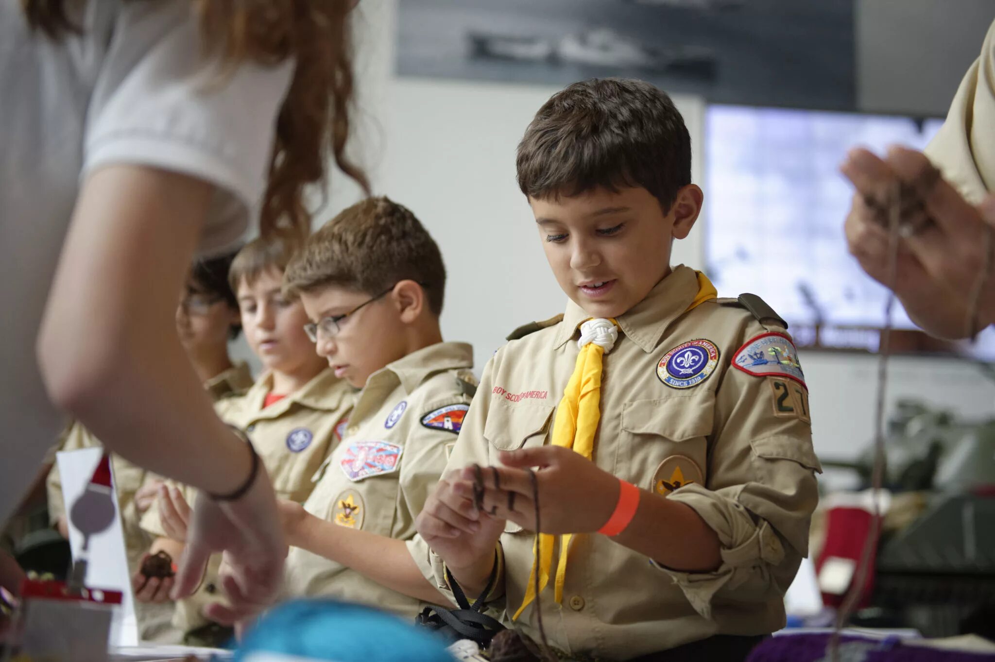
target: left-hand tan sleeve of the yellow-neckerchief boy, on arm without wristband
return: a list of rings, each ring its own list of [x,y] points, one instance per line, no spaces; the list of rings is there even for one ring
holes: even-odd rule
[[[456,439],[456,445],[453,446],[449,460],[446,462],[446,466],[440,475],[453,469],[463,468],[469,464],[487,464],[490,462],[488,440],[484,437],[484,423],[487,420],[488,410],[491,405],[491,390],[493,387],[491,375],[493,364],[499,354],[500,351],[498,350],[495,357],[484,368],[484,376],[481,378],[481,384],[477,389],[477,396],[474,398],[470,411],[467,412],[467,417],[464,419],[463,426],[460,429],[460,435]],[[450,436],[452,437],[453,435],[450,434]],[[438,477],[436,478],[436,482],[438,482]],[[430,493],[431,490],[426,491],[425,498],[428,498]],[[415,560],[415,564],[419,570],[421,570],[422,575],[425,576],[425,579],[431,581],[440,592],[455,603],[456,598],[449,587],[449,583],[446,581],[446,565],[442,558],[432,551],[428,544],[422,540],[421,536],[415,536],[413,540],[408,541],[408,551],[411,553],[411,557]],[[504,594],[504,554],[500,543],[497,544],[497,564],[498,574],[495,579],[495,587],[491,590],[488,601],[495,600]]]

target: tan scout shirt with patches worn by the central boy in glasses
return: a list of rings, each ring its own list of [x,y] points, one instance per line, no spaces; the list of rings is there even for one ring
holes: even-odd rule
[[[307,512],[341,526],[410,540],[439,482],[476,391],[473,349],[426,347],[370,376],[346,437],[321,466]],[[298,548],[287,558],[293,595],[334,595],[414,618],[417,599]]]

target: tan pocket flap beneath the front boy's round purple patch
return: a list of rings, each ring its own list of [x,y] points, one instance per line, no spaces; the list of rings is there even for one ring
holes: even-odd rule
[[[711,433],[715,395],[702,390],[693,396],[636,400],[622,409],[622,429],[636,434],[658,434],[685,441]]]

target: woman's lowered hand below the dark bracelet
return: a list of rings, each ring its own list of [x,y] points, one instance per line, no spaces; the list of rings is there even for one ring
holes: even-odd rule
[[[284,580],[287,543],[264,467],[259,467],[252,487],[236,501],[216,502],[208,495],[198,495],[173,588],[174,599],[196,589],[211,555],[219,552],[224,553],[220,582],[230,605],[211,605],[208,613],[213,620],[230,625],[276,599]]]

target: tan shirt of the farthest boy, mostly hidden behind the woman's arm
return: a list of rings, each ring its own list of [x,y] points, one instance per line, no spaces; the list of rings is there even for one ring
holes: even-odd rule
[[[242,391],[252,386],[252,373],[249,366],[240,363],[204,383],[204,388],[217,400],[227,394]],[[100,440],[81,423],[75,422],[63,434],[60,450],[79,450],[100,446]],[[133,575],[138,570],[141,557],[148,551],[152,537],[139,526],[141,515],[135,506],[134,496],[146,479],[153,474],[132,464],[117,454],[110,456],[113,467],[114,489],[117,492],[117,507],[120,509],[121,526],[124,530],[124,546],[127,551],[128,570]],[[66,502],[62,493],[62,478],[59,465],[52,466],[46,480],[49,500],[49,520],[55,524],[66,515]],[[152,508],[151,510],[154,510]],[[135,614],[141,629],[143,641],[175,643],[179,641],[176,631],[170,631],[172,605],[135,602]]]

